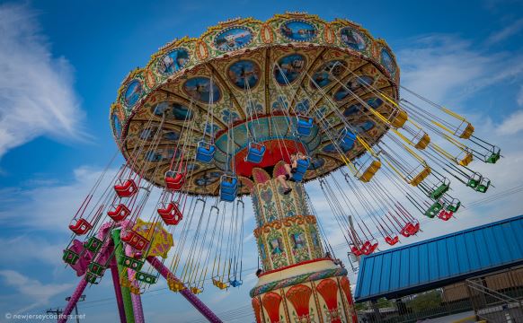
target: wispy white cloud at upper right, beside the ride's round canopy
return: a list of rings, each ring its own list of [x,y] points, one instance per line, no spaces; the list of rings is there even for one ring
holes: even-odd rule
[[[412,47],[400,49],[397,57],[403,85],[431,100],[453,105],[523,73],[520,54],[484,53],[451,35],[412,39]]]

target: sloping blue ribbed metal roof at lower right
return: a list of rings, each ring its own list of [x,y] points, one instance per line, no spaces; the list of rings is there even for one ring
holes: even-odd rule
[[[523,215],[361,258],[356,301],[397,298],[523,264]]]

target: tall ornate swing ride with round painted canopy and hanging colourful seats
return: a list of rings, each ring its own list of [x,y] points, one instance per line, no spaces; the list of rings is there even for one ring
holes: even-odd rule
[[[144,321],[139,295],[160,275],[220,321],[196,294],[244,283],[248,197],[262,265],[256,321],[356,322],[322,222],[369,255],[416,235],[420,216],[451,220],[454,185],[491,186],[471,163],[501,157],[465,118],[400,85],[385,40],[306,13],[173,40],[126,77],[110,116],[126,162],[86,196],[64,261],[84,276],[75,295],[111,269],[127,322]],[[315,179],[322,197],[306,192]],[[313,197],[331,212],[316,213]]]

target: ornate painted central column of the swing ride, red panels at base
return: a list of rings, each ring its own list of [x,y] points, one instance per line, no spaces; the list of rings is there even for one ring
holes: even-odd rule
[[[287,196],[273,174],[253,169],[254,236],[263,272],[251,290],[258,323],[357,322],[347,270],[326,258],[303,185],[288,181]]]

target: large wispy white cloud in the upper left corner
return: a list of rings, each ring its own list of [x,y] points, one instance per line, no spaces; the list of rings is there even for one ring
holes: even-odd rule
[[[73,67],[53,57],[35,14],[24,5],[0,5],[0,34],[0,157],[40,135],[82,137]]]

